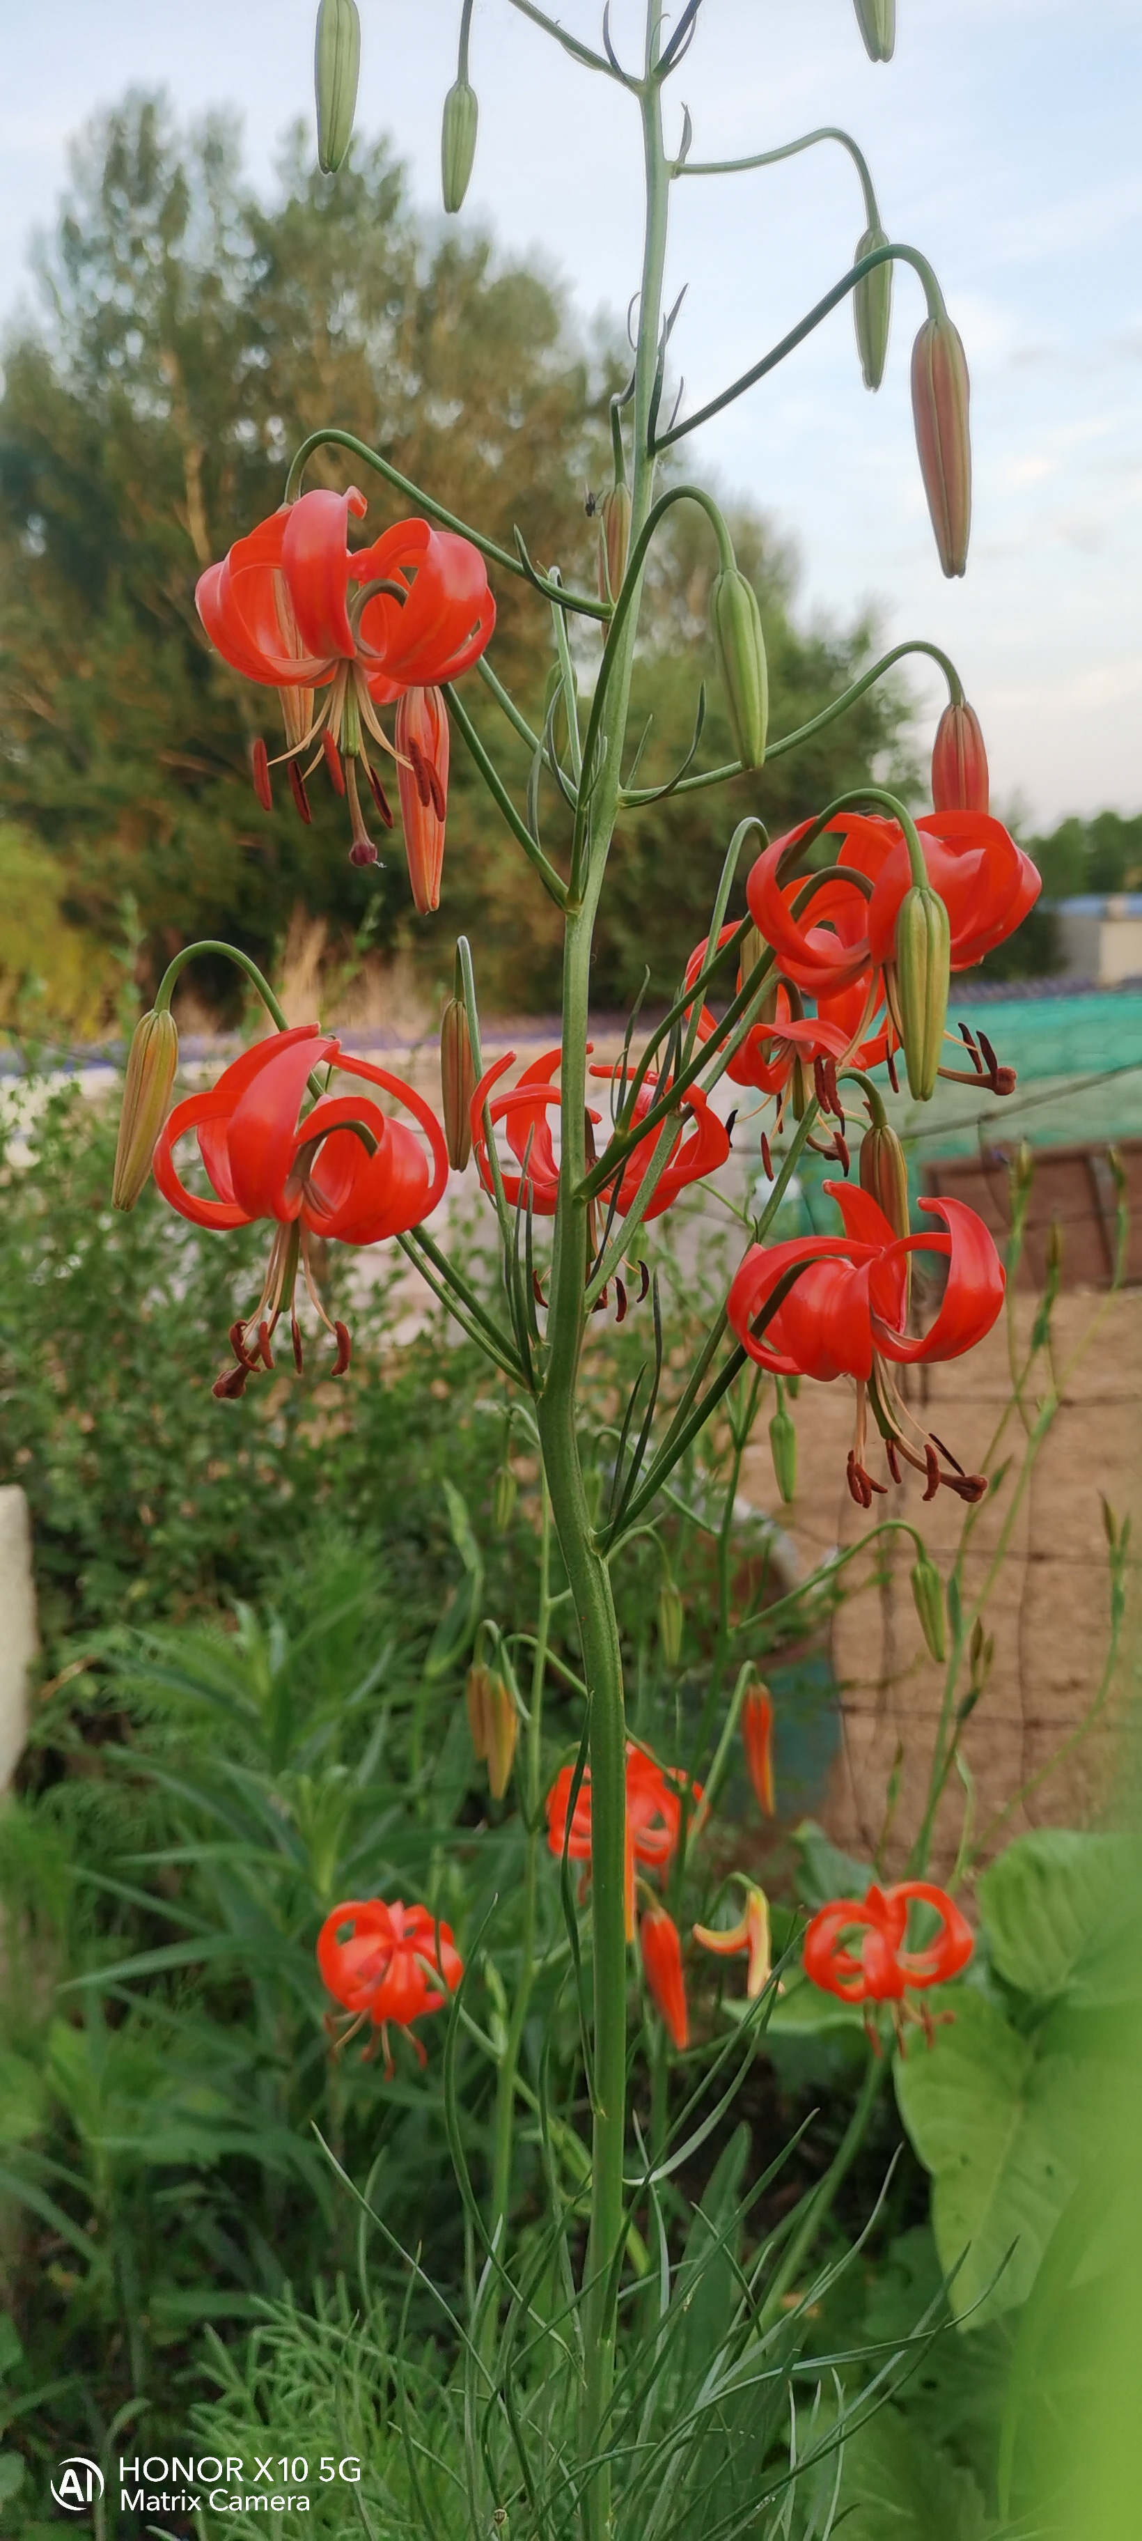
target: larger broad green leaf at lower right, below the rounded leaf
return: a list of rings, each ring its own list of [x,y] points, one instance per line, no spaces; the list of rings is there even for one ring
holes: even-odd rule
[[[1073,2056],[1035,2056],[972,1987],[944,2000],[954,2020],[936,2028],[931,2048],[916,2040],[896,2061],[896,2099],[931,2173],[939,2261],[952,2269],[962,2259],[952,2310],[977,2305],[972,2320],[982,2322],[1023,2302],[1035,2282],[1089,2160],[1096,2081]]]

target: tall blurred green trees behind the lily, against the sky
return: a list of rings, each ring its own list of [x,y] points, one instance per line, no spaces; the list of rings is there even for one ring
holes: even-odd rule
[[[508,549],[594,579],[589,485],[607,470],[607,396],[624,351],[576,338],[558,290],[505,262],[485,234],[429,226],[388,142],[358,145],[335,180],[294,132],[274,203],[244,180],[236,130],[183,132],[162,99],[132,94],[74,150],[71,191],[41,249],[43,323],[8,346],[0,401],[0,818],[61,872],[61,912],[99,940],[137,902],[155,971],[190,935],[231,935],[266,955],[297,905],[353,935],[371,915],[383,950],[444,978],[449,935],[480,938],[482,988],[543,1006],[556,935],[520,892],[518,846],[497,826],[457,742],[444,907],[409,905],[398,831],[376,874],[348,864],[340,805],[312,788],[305,828],[279,783],[264,813],[249,785],[256,691],[208,653],[198,572],[279,501],[297,442],[322,422],[358,432],[409,478]],[[401,501],[335,452],[307,483],[363,478],[371,534]],[[865,661],[870,630],[799,633],[792,567],[774,534],[736,518],[771,653],[771,729],[820,711]],[[708,684],[700,760],[731,755],[713,681],[708,529],[675,506],[655,551],[640,704],[652,714],[642,772],[667,778]],[[492,661],[535,719],[551,628],[543,602],[500,572]],[[584,684],[596,643],[584,638]],[[467,701],[523,798],[525,752],[477,678]],[[690,795],[632,813],[617,839],[596,994],[665,988],[700,935],[731,821],[771,828],[868,775],[903,722],[901,691],[865,699],[817,747],[779,760],[731,798]],[[279,709],[261,701],[277,747]],[[546,805],[561,846],[561,805]],[[216,983],[223,991],[223,983]]]

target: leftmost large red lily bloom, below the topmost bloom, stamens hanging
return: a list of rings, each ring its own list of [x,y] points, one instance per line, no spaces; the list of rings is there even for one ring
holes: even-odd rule
[[[335,1067],[365,1077],[396,1095],[424,1131],[431,1161],[404,1121],[388,1121],[365,1095],[320,1095],[299,1118],[302,1095],[315,1067]],[[198,1133],[216,1199],[188,1192],[175,1166],[175,1146]],[[266,1283],[251,1316],[231,1326],[236,1367],[216,1382],[216,1395],[241,1395],[259,1359],[274,1365],[272,1337],[289,1311],[294,1362],[302,1365],[302,1337],[294,1314],[294,1281],[302,1263],[310,1298],[338,1339],[335,1375],[350,1362],[345,1324],[330,1324],[320,1304],[310,1237],[332,1235],[343,1245],[378,1245],[404,1235],[436,1207],[449,1176],[444,1131],[414,1085],[391,1077],[371,1060],[340,1049],[317,1024],[277,1032],[244,1049],[223,1070],[211,1093],[175,1103],[155,1146],[155,1182],[180,1217],[198,1227],[249,1227],[256,1217],[277,1225]]]

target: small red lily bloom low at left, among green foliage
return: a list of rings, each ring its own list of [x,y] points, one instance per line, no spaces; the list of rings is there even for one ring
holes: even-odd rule
[[[317,1934],[317,1967],[335,2002],[355,2015],[340,2046],[371,2020],[381,2030],[388,2076],[393,2073],[388,2023],[411,2038],[426,2063],[411,2023],[444,2010],[464,1974],[452,1926],[436,1924],[429,1906],[401,1906],[398,1898],[391,1906],[383,1898],[348,1898],[335,1906]]]

